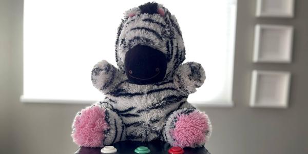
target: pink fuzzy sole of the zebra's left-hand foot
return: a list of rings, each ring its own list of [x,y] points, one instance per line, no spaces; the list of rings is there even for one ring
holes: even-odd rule
[[[73,122],[74,142],[88,147],[103,146],[105,130],[109,125],[105,120],[105,109],[99,106],[88,107],[76,115]]]

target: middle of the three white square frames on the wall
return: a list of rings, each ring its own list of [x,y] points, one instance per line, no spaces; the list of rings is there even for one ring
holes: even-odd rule
[[[253,61],[291,63],[293,27],[286,25],[256,25]]]

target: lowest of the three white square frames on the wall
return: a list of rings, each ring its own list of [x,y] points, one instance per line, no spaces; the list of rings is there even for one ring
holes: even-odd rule
[[[250,106],[287,108],[290,80],[290,72],[254,70]]]

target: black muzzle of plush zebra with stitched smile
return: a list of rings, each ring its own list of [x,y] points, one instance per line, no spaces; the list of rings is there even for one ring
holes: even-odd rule
[[[124,68],[131,83],[153,84],[164,79],[167,60],[163,52],[148,46],[137,45],[125,54]]]

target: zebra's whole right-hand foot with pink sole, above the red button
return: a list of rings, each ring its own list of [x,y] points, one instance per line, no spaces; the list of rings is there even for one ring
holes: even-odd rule
[[[200,147],[208,141],[211,124],[204,112],[179,109],[167,119],[163,137],[171,146]]]

